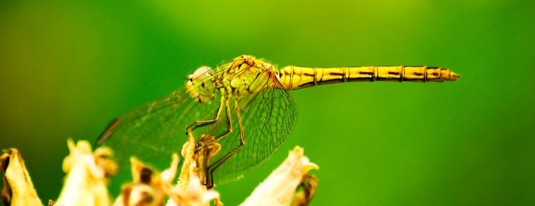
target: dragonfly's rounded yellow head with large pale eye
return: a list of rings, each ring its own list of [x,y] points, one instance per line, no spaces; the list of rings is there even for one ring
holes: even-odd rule
[[[199,67],[193,74],[188,76],[186,88],[192,98],[199,103],[209,103],[215,97],[215,85],[212,68]]]

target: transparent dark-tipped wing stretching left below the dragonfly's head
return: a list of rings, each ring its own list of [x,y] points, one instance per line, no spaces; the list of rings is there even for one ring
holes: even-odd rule
[[[215,67],[213,76],[220,76],[232,67],[233,61]],[[104,130],[97,144],[108,146],[114,151],[114,158],[120,164],[115,182],[122,184],[131,180],[131,156],[142,162],[150,162],[162,170],[169,166],[172,153],[179,153],[188,140],[186,126],[197,120],[213,119],[220,104],[220,92],[215,91],[211,103],[203,104],[190,97],[185,86],[145,105],[135,108],[115,119]],[[224,128],[216,123],[195,130],[196,134],[209,133],[213,127]],[[198,133],[197,133],[198,132]],[[200,137],[200,135],[195,135]]]

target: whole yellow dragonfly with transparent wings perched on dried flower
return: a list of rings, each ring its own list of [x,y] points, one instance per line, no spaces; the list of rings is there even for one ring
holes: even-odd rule
[[[450,69],[426,66],[296,67],[276,69],[252,55],[215,67],[199,67],[186,85],[140,106],[110,123],[97,144],[113,148],[125,164],[134,155],[164,168],[179,153],[189,128],[220,144],[207,166],[204,184],[242,178],[277,151],[293,130],[297,107],[291,90],[345,82],[443,82],[460,78]],[[127,164],[127,163],[126,163]]]

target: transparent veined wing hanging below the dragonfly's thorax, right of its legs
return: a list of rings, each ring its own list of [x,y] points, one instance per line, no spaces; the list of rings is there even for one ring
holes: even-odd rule
[[[263,81],[265,83],[260,86],[273,84],[271,79]],[[297,119],[297,108],[293,98],[282,85],[278,82],[274,84],[274,88],[267,87],[238,101],[244,124],[245,145],[214,171],[215,184],[238,180],[267,160],[290,135]],[[235,112],[232,122],[234,131],[229,137],[220,140],[222,150],[218,158],[222,158],[240,144]],[[213,160],[215,161],[217,158]]]

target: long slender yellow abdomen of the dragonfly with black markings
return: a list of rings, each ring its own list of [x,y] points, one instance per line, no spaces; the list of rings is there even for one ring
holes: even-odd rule
[[[456,80],[459,74],[441,67],[284,67],[279,71],[281,84],[288,90],[302,89],[315,85],[354,81],[413,81],[443,82]]]

